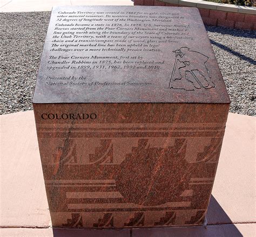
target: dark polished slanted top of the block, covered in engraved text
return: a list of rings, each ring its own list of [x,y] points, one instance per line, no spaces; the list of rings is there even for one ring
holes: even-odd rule
[[[230,103],[196,8],[58,6],[33,103]]]

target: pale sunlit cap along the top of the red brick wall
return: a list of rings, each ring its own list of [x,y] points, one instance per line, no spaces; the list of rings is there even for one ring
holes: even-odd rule
[[[256,15],[256,8],[254,6],[238,6],[225,3],[206,2],[202,0],[158,0],[160,2],[179,4],[185,6],[196,6],[197,8],[205,8],[227,12],[238,12],[244,14]]]

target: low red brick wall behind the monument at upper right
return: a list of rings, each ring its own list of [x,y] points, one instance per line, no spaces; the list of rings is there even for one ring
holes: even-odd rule
[[[183,6],[157,0],[134,0],[134,5]],[[205,25],[225,26],[242,30],[256,30],[256,15],[198,8]]]

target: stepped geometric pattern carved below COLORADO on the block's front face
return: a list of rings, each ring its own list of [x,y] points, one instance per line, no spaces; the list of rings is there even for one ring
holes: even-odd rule
[[[223,123],[38,128],[39,145],[54,144],[45,150],[41,145],[53,225],[202,224],[224,128]]]

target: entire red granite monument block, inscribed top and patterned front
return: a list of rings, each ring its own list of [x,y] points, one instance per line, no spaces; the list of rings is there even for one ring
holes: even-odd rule
[[[202,225],[229,104],[197,9],[53,8],[33,99],[52,225]]]

